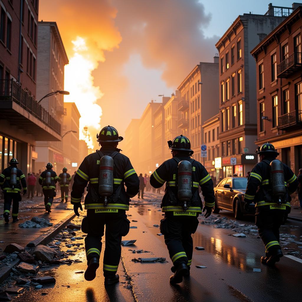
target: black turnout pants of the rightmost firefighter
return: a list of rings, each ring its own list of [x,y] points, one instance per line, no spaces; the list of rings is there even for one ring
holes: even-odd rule
[[[274,255],[277,249],[281,249],[279,228],[287,217],[285,210],[261,209],[255,214],[255,224],[258,227],[259,236],[265,245],[265,255]]]

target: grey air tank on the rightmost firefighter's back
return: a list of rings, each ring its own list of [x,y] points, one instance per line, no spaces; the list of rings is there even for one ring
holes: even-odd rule
[[[271,169],[271,192],[275,201],[278,204],[282,203],[282,198],[286,193],[284,185],[283,163],[275,159],[270,163]]]

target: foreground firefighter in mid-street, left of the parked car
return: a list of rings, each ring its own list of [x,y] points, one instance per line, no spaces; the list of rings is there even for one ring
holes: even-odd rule
[[[213,181],[204,166],[190,157],[193,154],[191,143],[187,137],[180,135],[168,142],[172,159],[162,163],[150,176],[150,184],[154,188],[160,188],[165,182],[165,193],[162,198],[161,208],[165,217],[160,222],[160,231],[164,235],[165,244],[169,250],[173,262],[171,268],[174,275],[170,277],[171,284],[181,283],[183,276],[189,276],[192,263],[193,239],[191,234],[197,230],[198,219],[201,213],[202,202],[198,194],[201,187],[204,196],[204,215],[206,218],[212,213],[214,207]],[[187,172],[178,171],[182,161],[189,162]],[[191,180],[185,179],[189,184],[188,193],[190,201],[185,207],[179,198],[179,176],[191,174]]]

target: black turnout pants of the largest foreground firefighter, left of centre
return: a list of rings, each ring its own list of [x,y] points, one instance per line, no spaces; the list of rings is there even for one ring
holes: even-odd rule
[[[120,263],[122,236],[129,233],[130,227],[125,210],[109,210],[104,213],[99,212],[100,210],[89,209],[87,216],[82,220],[82,232],[87,234],[85,237],[87,265],[91,258],[100,258],[104,226],[106,226],[103,260],[105,277],[116,274]]]

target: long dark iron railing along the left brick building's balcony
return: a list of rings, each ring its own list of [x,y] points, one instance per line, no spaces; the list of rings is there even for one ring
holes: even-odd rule
[[[13,79],[0,80],[0,101],[14,101],[61,135],[61,124],[46,111],[20,84]]]

